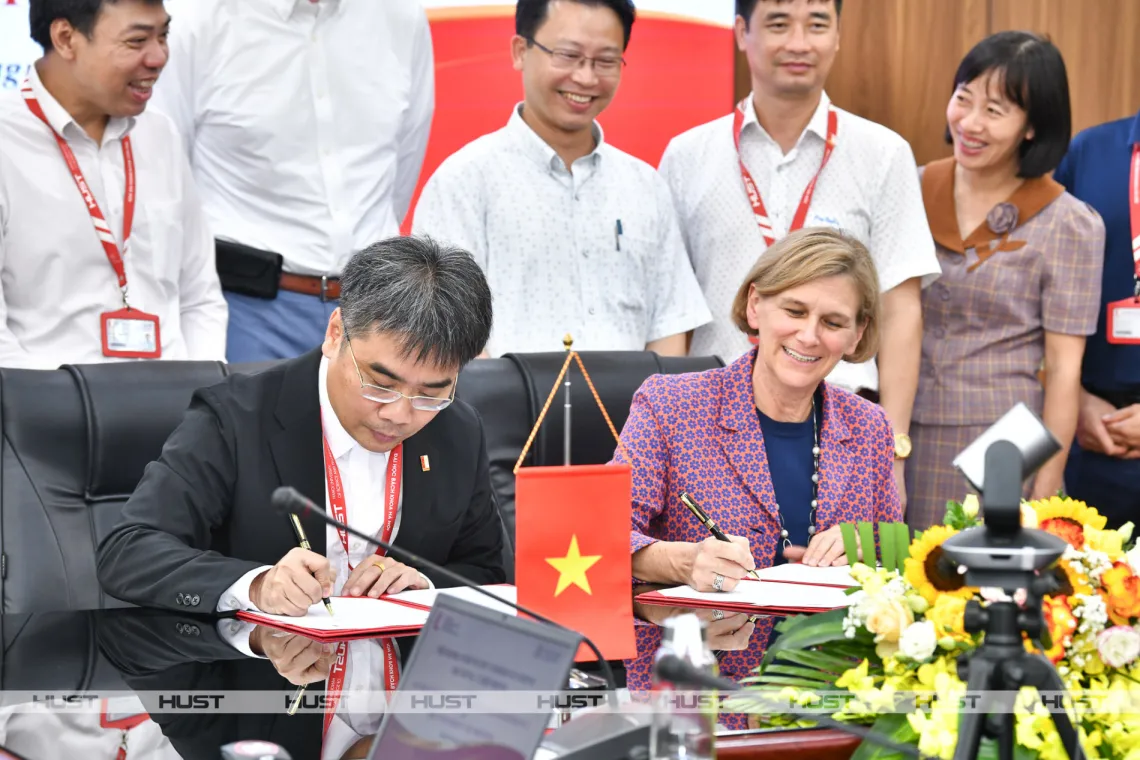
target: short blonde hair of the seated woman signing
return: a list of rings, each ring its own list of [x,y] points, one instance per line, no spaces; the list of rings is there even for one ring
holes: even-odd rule
[[[863,338],[845,357],[848,361],[866,361],[879,350],[879,276],[866,246],[830,227],[809,227],[777,240],[757,259],[744,283],[736,291],[732,319],[747,335],[756,335],[748,325],[748,293],[765,297],[779,295],[825,277],[849,277],[858,293],[856,325],[863,327]]]

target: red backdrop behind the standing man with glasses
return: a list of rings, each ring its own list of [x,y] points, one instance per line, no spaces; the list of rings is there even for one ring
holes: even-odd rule
[[[471,140],[492,132],[522,100],[511,66],[513,9],[429,11],[435,51],[435,119],[420,188]],[[732,30],[644,11],[634,25],[628,66],[613,104],[598,121],[605,139],[657,165],[669,139],[732,109]],[[415,209],[413,201],[412,209]],[[410,228],[412,214],[405,220]]]

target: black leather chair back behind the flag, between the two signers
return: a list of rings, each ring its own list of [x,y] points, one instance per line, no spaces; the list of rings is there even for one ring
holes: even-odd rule
[[[508,353],[500,359],[473,361],[459,374],[456,397],[473,406],[483,417],[491,485],[512,546],[514,464],[565,358],[567,354],[561,352]],[[676,375],[724,366],[716,357],[659,357],[651,351],[586,351],[581,352],[581,360],[619,433],[629,416],[634,393],[650,375]],[[576,465],[605,464],[613,457],[613,435],[597,409],[578,362],[570,365],[568,375],[570,461]],[[523,460],[524,467],[563,464],[563,386],[560,386]]]

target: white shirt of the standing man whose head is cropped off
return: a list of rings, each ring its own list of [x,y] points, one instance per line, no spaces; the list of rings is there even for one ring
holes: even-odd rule
[[[415,0],[193,0],[154,106],[188,142],[215,236],[339,275],[399,234],[434,109]]]

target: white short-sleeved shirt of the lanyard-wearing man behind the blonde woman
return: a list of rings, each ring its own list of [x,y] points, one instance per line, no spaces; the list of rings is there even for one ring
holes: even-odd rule
[[[804,189],[820,169],[830,104],[824,93],[787,154],[760,126],[751,97],[744,104],[740,149],[777,239],[788,234]],[[913,277],[929,285],[942,269],[926,220],[914,154],[886,126],[840,108],[836,112],[836,148],[820,175],[804,226],[836,227],[861,240],[874,259],[882,292]],[[697,329],[690,353],[715,354],[726,362],[751,348],[732,321],[732,302],[767,248],[744,193],[732,122],[728,114],[674,138],[660,166],[714,316],[711,324]],[[840,362],[828,379],[849,390],[879,387],[873,360]]]

